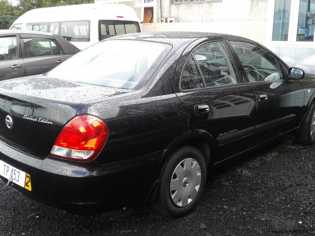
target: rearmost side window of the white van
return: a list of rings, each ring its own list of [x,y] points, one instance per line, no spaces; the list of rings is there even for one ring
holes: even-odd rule
[[[90,22],[86,21],[67,21],[61,23],[60,36],[68,41],[89,42]]]

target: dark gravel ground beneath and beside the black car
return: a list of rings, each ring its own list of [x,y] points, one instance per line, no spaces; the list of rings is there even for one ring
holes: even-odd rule
[[[288,140],[209,173],[200,204],[180,219],[160,215],[149,204],[76,216],[1,182],[0,236],[315,235],[315,145]]]

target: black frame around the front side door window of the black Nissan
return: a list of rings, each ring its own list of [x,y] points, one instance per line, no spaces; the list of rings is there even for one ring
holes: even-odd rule
[[[245,78],[245,81],[246,83],[264,83],[264,82],[281,82],[281,81],[286,81],[287,80],[287,73],[284,73],[284,68],[283,67],[287,67],[287,65],[280,59],[278,58],[277,55],[275,55],[274,53],[272,53],[270,50],[268,50],[267,48],[265,47],[262,47],[262,45],[259,45],[257,43],[254,43],[254,42],[249,42],[249,41],[244,41],[244,40],[238,40],[238,39],[228,39],[226,40],[227,43],[229,44],[229,48],[231,48],[231,50],[233,50],[233,53],[235,53],[235,56],[236,56],[236,59],[238,60],[238,64],[240,64],[240,66],[242,67],[242,74],[243,74],[243,77]],[[234,48],[232,47],[231,43],[230,42],[244,42],[244,43],[250,43],[252,45],[255,45],[256,47],[259,47],[261,49],[263,49],[264,51],[266,51],[267,53],[269,53],[275,60],[277,60],[279,62],[279,65],[280,65],[280,69],[282,71],[282,79],[279,79],[279,80],[276,80],[276,81],[255,81],[255,82],[251,82],[249,81],[248,79],[248,76],[246,75],[245,73],[245,69],[244,69],[244,66],[243,66],[243,63],[241,61],[241,59],[239,58],[238,54],[236,53],[236,51],[234,50]],[[263,57],[264,58],[264,57]],[[266,58],[265,58],[266,59]],[[266,59],[267,60],[267,59]],[[269,63],[270,61],[267,60]],[[271,63],[272,64],[272,63]],[[272,64],[273,65],[273,64]],[[288,70],[288,68],[287,68]]]

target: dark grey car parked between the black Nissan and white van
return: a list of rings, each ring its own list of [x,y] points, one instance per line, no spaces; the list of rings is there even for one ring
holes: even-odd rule
[[[55,34],[0,30],[0,80],[43,74],[79,51]]]

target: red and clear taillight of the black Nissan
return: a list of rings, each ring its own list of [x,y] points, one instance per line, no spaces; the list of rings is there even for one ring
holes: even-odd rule
[[[107,124],[93,115],[77,115],[60,131],[49,155],[90,161],[100,153],[109,133]]]

